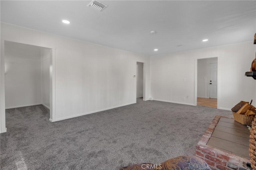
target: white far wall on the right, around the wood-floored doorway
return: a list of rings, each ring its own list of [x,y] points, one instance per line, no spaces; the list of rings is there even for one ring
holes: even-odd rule
[[[250,71],[254,53],[253,42],[244,42],[150,57],[151,97],[194,105],[196,60],[218,57],[218,108],[231,109],[239,101],[250,99],[255,105],[256,81],[244,76],[246,71]]]

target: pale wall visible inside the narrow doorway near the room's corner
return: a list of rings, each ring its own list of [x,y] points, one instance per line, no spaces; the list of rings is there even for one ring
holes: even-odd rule
[[[137,62],[137,98],[143,97],[143,63]]]

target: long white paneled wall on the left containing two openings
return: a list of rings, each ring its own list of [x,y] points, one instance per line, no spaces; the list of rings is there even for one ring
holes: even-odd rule
[[[136,61],[145,63],[145,100],[150,97],[148,56],[5,23],[1,23],[1,39],[56,48],[56,115],[53,121],[136,103],[136,78],[133,77]],[[1,114],[5,113],[1,110]]]

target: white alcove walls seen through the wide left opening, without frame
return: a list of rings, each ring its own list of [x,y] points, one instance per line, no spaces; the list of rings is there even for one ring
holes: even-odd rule
[[[50,49],[16,42],[4,47],[5,109],[43,105],[50,119]]]

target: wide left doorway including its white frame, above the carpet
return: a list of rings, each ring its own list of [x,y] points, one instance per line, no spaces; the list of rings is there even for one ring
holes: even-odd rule
[[[55,49],[6,40],[1,49],[1,132],[6,109],[18,114],[37,106],[55,121]]]

